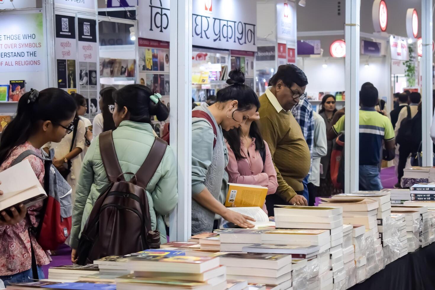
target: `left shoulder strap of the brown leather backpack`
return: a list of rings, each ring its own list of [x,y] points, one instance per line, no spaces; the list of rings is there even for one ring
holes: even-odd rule
[[[112,138],[112,130],[103,132],[99,135],[100,138],[100,154],[103,160],[104,170],[106,170],[107,179],[110,182],[115,182],[120,176],[124,180],[121,167],[118,162],[118,157],[115,151],[115,145]]]

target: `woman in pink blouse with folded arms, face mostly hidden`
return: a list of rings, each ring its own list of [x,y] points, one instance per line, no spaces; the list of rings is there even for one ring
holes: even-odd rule
[[[278,181],[268,144],[255,122],[259,119],[257,112],[239,128],[224,132],[229,157],[228,182],[267,187],[268,194],[273,194]],[[268,212],[265,204],[263,210]]]

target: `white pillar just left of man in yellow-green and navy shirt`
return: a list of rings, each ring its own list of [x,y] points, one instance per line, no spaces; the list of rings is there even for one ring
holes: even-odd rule
[[[359,178],[359,14],[361,0],[346,0],[345,193],[358,190]]]

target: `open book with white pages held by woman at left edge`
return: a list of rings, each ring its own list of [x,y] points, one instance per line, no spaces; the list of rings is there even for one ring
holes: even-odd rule
[[[23,160],[0,172],[0,181],[0,190],[3,190],[3,195],[0,195],[0,210],[18,206],[20,203],[30,207],[47,197],[29,160]]]

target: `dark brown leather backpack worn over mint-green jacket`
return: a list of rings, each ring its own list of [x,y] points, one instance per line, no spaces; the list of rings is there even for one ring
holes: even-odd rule
[[[151,229],[145,187],[156,172],[166,147],[167,143],[157,137],[137,173],[122,173],[112,131],[100,134],[101,159],[110,187],[98,197],[86,221],[77,247],[77,264],[160,248],[160,232]],[[127,182],[124,174],[133,177]]]

